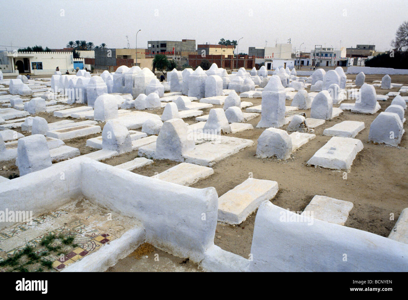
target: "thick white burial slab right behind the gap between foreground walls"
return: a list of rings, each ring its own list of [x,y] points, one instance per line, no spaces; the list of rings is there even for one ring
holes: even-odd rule
[[[218,198],[218,221],[240,224],[265,200],[275,197],[278,183],[248,178]]]

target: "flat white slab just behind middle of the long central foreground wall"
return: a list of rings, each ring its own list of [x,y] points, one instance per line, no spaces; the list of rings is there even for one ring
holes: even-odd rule
[[[213,174],[214,170],[212,168],[182,162],[160,174],[153,175],[152,177],[167,182],[190,186],[191,184]]]

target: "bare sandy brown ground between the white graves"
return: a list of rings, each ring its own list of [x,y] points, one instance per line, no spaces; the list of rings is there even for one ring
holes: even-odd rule
[[[373,80],[381,80],[383,75],[366,75],[366,82],[371,83]],[[408,84],[408,76],[391,75],[392,83]],[[347,79],[354,80],[355,75],[347,75]],[[307,88],[309,91],[309,88]],[[384,95],[388,90],[375,88],[377,95]],[[392,89],[398,91],[398,89]],[[408,93],[401,93],[401,96],[408,96]],[[386,101],[379,101],[381,111],[388,107],[394,97],[390,97]],[[252,102],[253,105],[260,105],[261,98],[241,98],[242,101]],[[355,100],[349,99],[342,103],[354,103]],[[286,100],[286,106],[290,106],[291,100]],[[73,104],[82,106],[83,104]],[[333,107],[339,107],[340,104]],[[222,105],[214,105],[213,108],[220,108]],[[135,110],[135,109],[130,109]],[[208,114],[210,109],[204,109],[204,114]],[[243,110],[245,111],[245,109]],[[299,110],[306,113],[306,117],[310,117],[309,110]],[[381,112],[380,111],[380,112]],[[161,115],[162,109],[150,110],[149,113]],[[62,120],[53,116],[53,113],[38,113],[36,116],[45,118],[47,122],[56,122]],[[267,179],[278,182],[279,191],[275,198],[271,200],[273,204],[290,211],[303,211],[306,205],[315,195],[324,195],[353,202],[354,207],[349,213],[348,220],[344,224],[347,227],[369,231],[384,237],[387,237],[394,227],[401,211],[408,206],[407,189],[408,183],[406,173],[408,169],[408,140],[406,135],[402,137],[399,147],[389,147],[386,145],[376,145],[368,142],[368,132],[371,122],[378,116],[352,113],[343,111],[343,114],[332,120],[326,121],[323,125],[315,128],[316,138],[313,142],[309,142],[295,151],[288,160],[277,160],[276,158],[259,159],[255,156],[257,149],[257,139],[265,130],[264,128],[256,128],[260,120],[260,116],[248,121],[253,125],[254,129],[246,130],[239,133],[228,134],[253,140],[254,144],[251,147],[242,149],[233,156],[229,156],[224,160],[217,162],[212,166],[214,174],[206,179],[191,185],[191,187],[204,188],[215,187],[218,196],[222,196],[227,191],[233,189],[238,184],[242,183],[246,178],[252,176],[257,179]],[[65,118],[71,119],[72,118]],[[324,129],[332,127],[334,124],[344,120],[361,121],[365,123],[365,129],[360,131],[355,138],[361,140],[364,149],[360,151],[355,160],[351,171],[344,173],[343,171],[333,171],[320,167],[308,167],[306,162],[313,154],[320,149],[331,136],[323,136]],[[188,124],[195,123],[195,118],[184,119]],[[103,129],[104,122],[98,123]],[[288,125],[284,125],[281,129],[286,129]],[[408,127],[404,124],[404,129]],[[21,131],[21,128],[13,129],[25,136],[31,135],[29,132]],[[96,151],[86,147],[86,140],[100,136],[101,133],[64,140],[65,144],[71,147],[78,148],[81,155]],[[118,165],[128,162],[137,157],[137,151],[124,153],[102,162],[110,165]],[[171,160],[155,160],[153,164],[135,169],[133,172],[144,175],[153,176],[155,173],[160,173],[175,166],[178,162]],[[0,176],[13,178],[18,176],[18,168],[15,161],[2,163],[0,166]],[[97,180],[97,178],[95,178]],[[390,214],[394,214],[394,219],[390,220]],[[251,242],[253,228],[255,222],[256,211],[239,225],[218,224],[214,243],[226,251],[238,254],[244,258],[248,258],[251,251]],[[141,245],[134,253],[118,262],[108,271],[134,271],[140,269],[152,270],[152,265],[140,258],[148,256],[152,259],[153,254],[160,250],[152,250],[153,246]],[[169,269],[179,268],[182,271],[194,271],[197,266],[183,263],[183,259],[176,258],[170,254],[160,252],[162,257],[168,263]],[[129,267],[133,266],[133,267]],[[162,270],[161,271],[165,271]]]

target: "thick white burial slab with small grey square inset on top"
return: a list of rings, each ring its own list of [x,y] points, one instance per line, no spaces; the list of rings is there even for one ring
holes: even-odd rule
[[[363,143],[360,140],[333,136],[306,164],[347,171],[362,149]]]

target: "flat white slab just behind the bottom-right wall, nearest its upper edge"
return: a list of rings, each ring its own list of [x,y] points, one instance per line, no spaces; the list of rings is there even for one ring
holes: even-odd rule
[[[301,215],[313,216],[313,218],[325,222],[344,225],[352,208],[353,202],[316,195]]]

